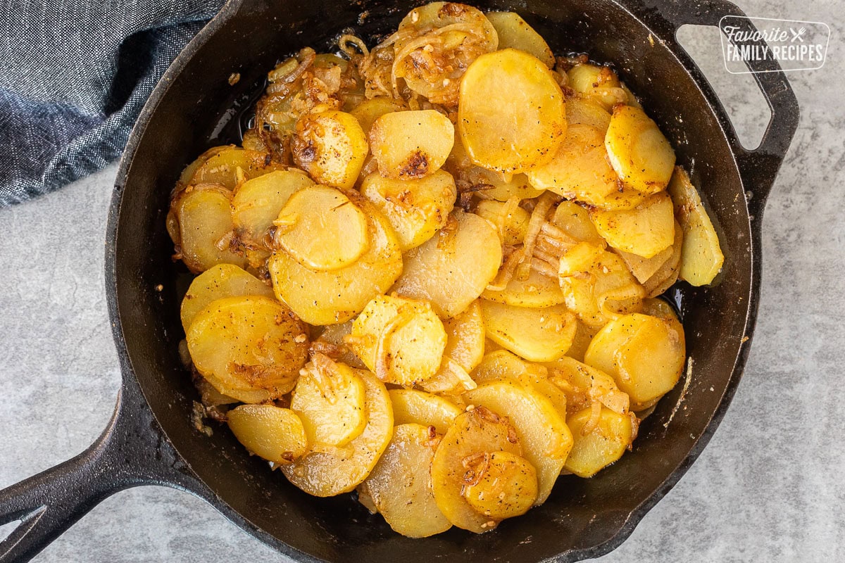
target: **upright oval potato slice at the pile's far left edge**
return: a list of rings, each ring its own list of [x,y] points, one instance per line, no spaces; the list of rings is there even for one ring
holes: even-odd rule
[[[232,252],[232,193],[217,184],[183,190],[171,204],[179,239],[177,256],[194,273],[220,263],[245,267],[247,258]]]

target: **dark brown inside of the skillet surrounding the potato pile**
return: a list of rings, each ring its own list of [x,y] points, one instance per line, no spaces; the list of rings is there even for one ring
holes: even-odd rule
[[[739,378],[741,341],[753,321],[750,311],[756,300],[748,210],[722,121],[671,49],[649,41],[649,30],[629,12],[635,7],[595,0],[473,3],[520,13],[558,54],[587,52],[598,62],[613,64],[673,143],[679,164],[706,194],[726,260],[716,287],[678,284],[670,290],[683,316],[693,361],[679,409],[683,377],[644,421],[633,452],[618,463],[592,479],[561,477],[544,505],[503,522],[492,533],[453,528],[429,539],[393,533],[352,495],[309,496],[281,473],[270,472],[258,457],[249,457],[226,428],[216,426],[208,437],[192,424],[198,394],[177,352],[184,338],[178,311],[187,277],[181,264],[172,262],[165,230],[169,195],[179,173],[204,149],[239,141],[244,112],[277,60],[303,46],[328,47],[346,29],[372,46],[418,4],[263,0],[244,5],[204,43],[189,46],[193,52],[183,53],[190,58],[166,85],[150,116],[142,116],[145,127],[124,157],[131,160],[114,268],[117,311],[132,368],[126,376],[137,377],[166,436],[208,486],[211,501],[299,560],[535,561],[559,554],[568,554],[564,560],[601,555],[630,533],[644,509],[688,467],[690,452],[697,454],[706,443],[715,427],[711,421],[721,417],[723,396],[729,398]],[[228,81],[232,73],[241,75],[234,85]],[[156,290],[159,284],[164,290]]]

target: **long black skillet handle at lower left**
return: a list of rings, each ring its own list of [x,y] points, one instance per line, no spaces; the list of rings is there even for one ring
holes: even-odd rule
[[[119,490],[137,485],[189,489],[193,483],[140,392],[124,387],[112,420],[85,452],[0,490],[0,525],[20,521],[0,542],[0,563],[32,559]]]

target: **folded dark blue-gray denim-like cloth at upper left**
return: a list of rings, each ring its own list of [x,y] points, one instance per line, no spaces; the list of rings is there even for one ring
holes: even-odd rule
[[[0,207],[115,160],[155,83],[223,3],[0,3]]]

